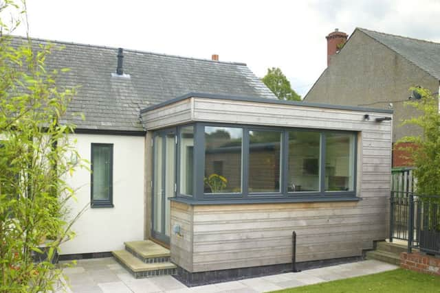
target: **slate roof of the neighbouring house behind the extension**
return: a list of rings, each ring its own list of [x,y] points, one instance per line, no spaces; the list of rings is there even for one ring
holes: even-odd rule
[[[417,67],[426,71],[437,80],[440,80],[440,43],[433,43],[428,40],[417,40],[383,32],[374,32],[358,27],[360,30],[371,36],[371,38],[382,43],[397,54],[414,63]]]

